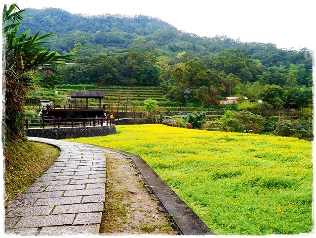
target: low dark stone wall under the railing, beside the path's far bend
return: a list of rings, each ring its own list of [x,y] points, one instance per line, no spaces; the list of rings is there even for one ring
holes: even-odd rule
[[[79,137],[97,137],[115,134],[117,134],[115,125],[73,128],[39,128],[26,130],[26,135],[28,137],[41,137],[55,140]]]

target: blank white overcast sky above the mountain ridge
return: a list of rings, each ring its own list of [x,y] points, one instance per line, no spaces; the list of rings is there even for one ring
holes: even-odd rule
[[[315,49],[314,0],[7,0],[20,8],[71,13],[148,15],[198,36],[226,35],[277,48]]]

